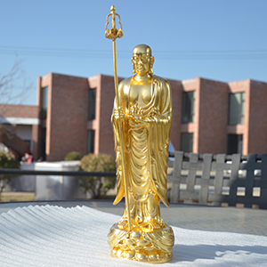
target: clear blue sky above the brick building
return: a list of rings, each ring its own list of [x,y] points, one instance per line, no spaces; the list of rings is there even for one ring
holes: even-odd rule
[[[32,83],[24,104],[36,104],[36,79],[49,72],[113,75],[112,42],[104,36],[111,4],[124,31],[119,77],[132,75],[134,45],[149,44],[161,77],[267,82],[265,0],[0,0],[0,74],[23,60]]]

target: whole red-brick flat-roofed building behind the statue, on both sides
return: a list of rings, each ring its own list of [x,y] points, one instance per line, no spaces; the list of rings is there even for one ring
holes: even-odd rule
[[[267,151],[267,83],[250,79],[223,83],[201,77],[168,81],[175,150],[244,155]],[[110,76],[38,77],[34,158],[56,161],[70,151],[114,155],[110,123],[114,96]]]

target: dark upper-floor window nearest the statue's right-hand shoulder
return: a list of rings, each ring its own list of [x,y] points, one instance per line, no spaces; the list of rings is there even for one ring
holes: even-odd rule
[[[182,92],[182,123],[194,121],[195,91]]]

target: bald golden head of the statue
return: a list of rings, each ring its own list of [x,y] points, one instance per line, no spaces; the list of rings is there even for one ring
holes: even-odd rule
[[[134,47],[132,64],[134,73],[138,75],[146,75],[152,69],[154,57],[151,56],[150,46],[139,44]]]

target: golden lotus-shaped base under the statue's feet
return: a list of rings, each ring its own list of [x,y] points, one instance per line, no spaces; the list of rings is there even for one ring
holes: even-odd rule
[[[125,231],[115,223],[109,230],[111,256],[145,263],[172,260],[174,231],[170,226],[159,231]]]

